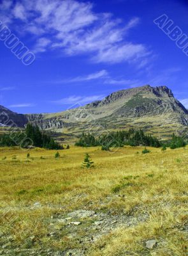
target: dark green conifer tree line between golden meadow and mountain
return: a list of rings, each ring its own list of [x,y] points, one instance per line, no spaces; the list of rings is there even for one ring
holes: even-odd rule
[[[13,134],[0,135],[0,147],[20,146],[26,147],[22,141],[25,136],[32,141],[34,147],[41,147],[47,149],[63,149],[62,145],[57,143],[54,138],[50,137],[45,132],[41,131],[37,125],[27,124],[25,131],[14,132]],[[124,147],[130,145],[132,147],[145,146],[145,147],[170,147],[171,149],[185,147],[187,141],[180,136],[172,135],[171,140],[160,141],[156,137],[145,134],[142,130],[135,131],[117,131],[109,132],[101,136],[94,136],[94,134],[82,133],[82,136],[76,141],[75,145],[79,147],[98,147],[101,146],[102,150],[109,150],[111,147]],[[68,147],[69,148],[69,145]]]

